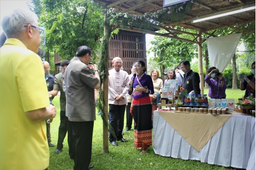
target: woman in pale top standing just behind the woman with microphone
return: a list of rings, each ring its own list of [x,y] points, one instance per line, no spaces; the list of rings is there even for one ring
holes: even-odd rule
[[[150,99],[152,103],[152,120],[153,120],[153,111],[157,110],[157,96],[160,98],[160,94],[162,93],[163,88],[163,81],[161,79],[158,79],[159,72],[156,69],[153,69],[151,71],[151,77],[154,85],[154,94],[150,94]]]

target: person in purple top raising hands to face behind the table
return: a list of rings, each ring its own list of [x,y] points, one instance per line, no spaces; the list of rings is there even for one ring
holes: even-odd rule
[[[208,69],[209,74],[206,75],[204,81],[209,85],[208,96],[211,99],[226,99],[227,84],[222,73],[216,67]]]

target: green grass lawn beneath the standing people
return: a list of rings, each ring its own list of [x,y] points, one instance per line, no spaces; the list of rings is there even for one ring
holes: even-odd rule
[[[208,89],[204,90],[208,94]],[[235,99],[238,101],[244,91],[241,90],[226,90],[227,98]],[[52,143],[57,144],[58,140],[58,127],[59,127],[59,97],[56,96],[53,100],[56,106],[57,115],[51,123],[51,138]],[[124,120],[124,126],[126,120]],[[125,129],[125,127],[124,127]],[[218,165],[210,165],[196,160],[182,160],[171,157],[162,157],[154,153],[151,146],[146,154],[140,153],[134,147],[134,134],[133,131],[124,132],[124,139],[129,142],[118,142],[118,147],[109,145],[109,153],[102,153],[103,139],[102,139],[102,120],[101,117],[96,115],[94,122],[93,144],[92,144],[92,160],[91,164],[94,165],[94,170],[97,169],[236,169],[232,167],[223,167]],[[54,154],[56,147],[50,148],[50,165],[49,169],[73,169],[74,161],[68,155],[68,142],[67,136],[63,142],[64,148],[60,154]]]

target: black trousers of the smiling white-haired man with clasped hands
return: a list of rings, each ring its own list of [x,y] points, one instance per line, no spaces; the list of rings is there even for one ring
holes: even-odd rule
[[[124,122],[124,111],[126,105],[109,105],[109,123],[112,130],[115,132],[117,140],[123,138],[123,122]],[[111,128],[110,127],[110,128]],[[114,135],[112,134],[112,130],[109,129],[109,141],[116,141]]]

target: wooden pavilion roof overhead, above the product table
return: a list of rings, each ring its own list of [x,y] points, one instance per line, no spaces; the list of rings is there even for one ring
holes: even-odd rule
[[[119,12],[122,13],[130,13],[135,15],[142,15],[146,12],[156,12],[157,10],[163,9],[163,0],[94,0],[100,3],[104,3],[107,8],[115,8]],[[195,20],[197,18],[204,18],[207,16],[212,16],[220,13],[225,13],[233,10],[238,10],[241,8],[252,7],[255,6],[255,1],[252,0],[201,0],[194,1],[193,9],[186,14],[185,19],[181,21],[179,27],[185,29],[193,29],[193,30],[201,30],[202,33],[205,33],[209,36],[215,36],[210,32],[213,30],[218,30],[222,28],[233,28],[233,32],[243,32],[250,33],[255,32],[255,28],[253,29],[244,29],[244,25],[248,23],[255,22],[255,9],[241,12],[237,14],[232,14],[228,16],[222,16],[219,18],[214,18],[210,20],[205,20],[201,22],[191,23],[191,20]],[[176,29],[172,29],[173,27],[178,25],[179,21],[166,21],[162,26],[162,28],[167,28],[169,30],[169,35],[172,38],[175,33],[177,33]],[[247,27],[248,28],[248,27]],[[129,28],[127,28],[129,30]],[[138,30],[130,30],[138,32]],[[150,32],[147,32],[150,33]],[[179,33],[181,33],[179,31]],[[186,34],[186,32],[184,32]],[[212,33],[212,34],[211,34]],[[157,35],[158,33],[150,33]],[[191,34],[191,33],[190,33]],[[161,35],[160,35],[161,36]],[[168,35],[164,35],[168,37]],[[179,39],[178,37],[176,37]],[[196,37],[194,40],[190,40],[189,42],[196,42]]]

